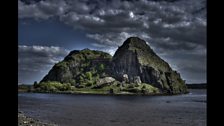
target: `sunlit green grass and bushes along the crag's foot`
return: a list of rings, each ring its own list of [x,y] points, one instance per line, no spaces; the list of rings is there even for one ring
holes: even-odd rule
[[[68,86],[68,85],[67,85]],[[77,88],[71,86],[67,87],[65,84],[56,82],[42,83],[36,88],[35,92],[43,93],[74,93],[74,94],[159,94],[158,88],[153,87],[149,84],[118,84],[113,82],[110,85],[103,85],[100,88],[94,88],[96,85],[85,86],[83,88]],[[58,89],[63,90],[58,90]],[[64,90],[66,89],[66,90]]]

